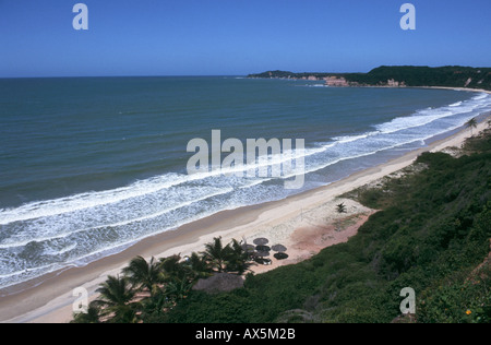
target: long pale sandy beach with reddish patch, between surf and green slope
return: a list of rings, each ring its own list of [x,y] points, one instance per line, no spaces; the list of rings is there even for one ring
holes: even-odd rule
[[[487,120],[478,124],[474,130],[475,134],[488,127]],[[339,195],[407,167],[422,152],[459,147],[470,134],[468,129],[460,129],[448,138],[431,142],[428,147],[412,151],[332,185],[280,201],[224,211],[176,230],[146,238],[121,253],[103,258],[86,266],[56,272],[43,277],[43,282],[24,284],[20,293],[9,295],[9,292],[2,292],[0,322],[69,322],[72,319],[72,305],[77,297],[73,296],[74,288],[84,287],[89,298],[94,298],[98,285],[108,275],[119,274],[135,255],[185,255],[202,251],[204,243],[218,236],[221,236],[224,242],[232,238],[252,242],[255,238],[265,237],[270,240],[268,246],[282,243],[287,247],[287,260],[273,260],[272,265],[254,266],[255,273],[308,259],[322,248],[347,241],[375,212]],[[337,213],[336,204],[339,203],[345,203],[347,213]]]

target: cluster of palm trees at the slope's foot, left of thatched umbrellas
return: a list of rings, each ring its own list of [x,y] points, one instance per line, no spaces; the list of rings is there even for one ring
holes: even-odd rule
[[[156,320],[190,293],[200,278],[214,273],[243,274],[253,257],[246,246],[221,238],[205,245],[203,252],[191,257],[172,255],[149,261],[136,257],[122,275],[108,276],[97,289],[86,313],[74,314],[72,323],[137,323]]]

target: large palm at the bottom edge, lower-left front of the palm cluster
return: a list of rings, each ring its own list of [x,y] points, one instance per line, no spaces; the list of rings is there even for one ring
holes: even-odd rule
[[[99,308],[100,314],[109,322],[134,323],[136,322],[135,305],[132,302],[135,290],[127,277],[108,276],[105,283],[97,289],[99,299],[93,302]]]

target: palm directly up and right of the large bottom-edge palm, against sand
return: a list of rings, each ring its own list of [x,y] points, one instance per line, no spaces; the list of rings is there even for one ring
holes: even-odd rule
[[[144,258],[136,257],[123,269],[123,273],[130,283],[139,289],[147,289],[151,296],[154,295],[157,284],[161,282],[161,272],[155,258],[147,262]]]

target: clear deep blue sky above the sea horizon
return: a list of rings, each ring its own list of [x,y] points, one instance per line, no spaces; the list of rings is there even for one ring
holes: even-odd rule
[[[490,17],[490,0],[0,0],[0,78],[491,67]]]

